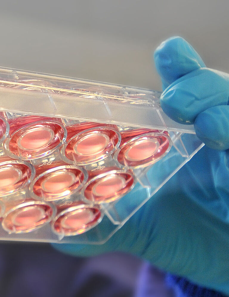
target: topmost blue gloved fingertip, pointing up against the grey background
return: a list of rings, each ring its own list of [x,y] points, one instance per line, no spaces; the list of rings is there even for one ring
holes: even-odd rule
[[[181,76],[205,67],[194,48],[179,36],[171,37],[157,47],[154,62],[161,76],[163,90]]]

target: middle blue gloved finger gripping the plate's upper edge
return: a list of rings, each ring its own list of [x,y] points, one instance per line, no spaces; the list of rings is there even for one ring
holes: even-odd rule
[[[192,71],[173,82],[161,95],[163,111],[174,121],[194,124],[199,113],[227,105],[229,75],[209,68]]]

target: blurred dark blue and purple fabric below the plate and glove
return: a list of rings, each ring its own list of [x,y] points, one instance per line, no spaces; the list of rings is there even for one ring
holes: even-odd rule
[[[47,244],[0,244],[1,297],[222,297],[123,253],[77,258]]]

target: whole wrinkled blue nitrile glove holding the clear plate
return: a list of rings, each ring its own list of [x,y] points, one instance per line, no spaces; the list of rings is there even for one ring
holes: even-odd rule
[[[161,106],[194,123],[206,143],[104,245],[56,244],[76,256],[135,254],[165,271],[229,295],[229,75],[205,68],[194,49],[172,37],[155,51]],[[112,269],[112,268],[111,268]]]

